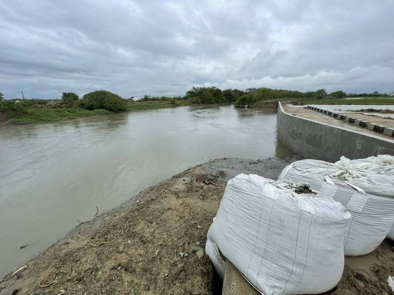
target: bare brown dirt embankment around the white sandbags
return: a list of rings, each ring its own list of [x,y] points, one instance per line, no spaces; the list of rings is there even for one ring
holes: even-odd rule
[[[26,269],[6,276],[0,295],[213,294],[218,290],[204,249],[227,180],[239,173],[276,179],[296,160],[220,159],[197,165],[77,226]],[[389,294],[392,249],[385,241],[370,255],[347,258],[332,294]]]

